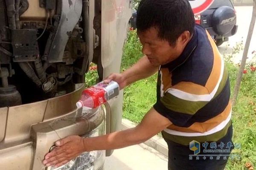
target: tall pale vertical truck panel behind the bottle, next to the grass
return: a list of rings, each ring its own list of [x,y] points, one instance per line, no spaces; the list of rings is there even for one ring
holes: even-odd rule
[[[102,0],[101,62],[103,78],[111,73],[120,72],[122,49],[127,37],[128,20],[131,17],[130,7],[130,0]],[[117,99],[108,102],[106,106],[107,133],[120,130],[122,97],[123,91],[120,91]],[[107,151],[107,156],[112,152]]]

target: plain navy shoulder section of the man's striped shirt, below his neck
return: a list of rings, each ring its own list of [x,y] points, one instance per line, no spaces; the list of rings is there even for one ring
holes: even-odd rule
[[[186,62],[172,72],[174,85],[185,81],[204,86],[212,72],[214,57],[220,57],[215,56],[214,44],[211,43],[205,28],[196,25],[195,31],[198,36],[197,46]]]

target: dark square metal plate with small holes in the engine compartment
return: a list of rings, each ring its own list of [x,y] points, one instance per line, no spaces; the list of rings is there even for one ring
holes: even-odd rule
[[[36,29],[12,30],[14,62],[35,61],[39,54]]]

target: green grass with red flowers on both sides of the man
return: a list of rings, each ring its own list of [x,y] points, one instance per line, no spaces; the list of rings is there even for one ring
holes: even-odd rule
[[[235,48],[236,50],[237,48]],[[136,31],[129,32],[126,40],[121,71],[133,65],[142,57],[140,41]],[[230,56],[226,56],[226,66],[230,75],[231,91],[236,80],[238,66],[230,62]],[[241,159],[229,160],[226,170],[246,170],[246,162],[256,166],[256,73],[251,71],[251,65],[247,65],[247,73],[244,74],[241,82],[241,89],[233,106],[233,142],[241,143]],[[90,72],[90,71],[89,71]],[[89,73],[87,81],[92,79],[90,74],[95,74],[95,70]],[[123,118],[138,123],[145,113],[156,102],[156,81],[157,75],[135,82],[124,89]],[[91,85],[91,84],[90,84]]]

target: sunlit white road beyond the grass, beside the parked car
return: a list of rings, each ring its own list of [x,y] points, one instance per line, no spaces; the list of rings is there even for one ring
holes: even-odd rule
[[[230,37],[228,42],[223,43],[219,47],[219,51],[221,54],[224,53],[231,53],[234,46],[236,46],[236,42],[243,41],[243,45],[245,45],[249,26],[250,26],[250,20],[252,16],[253,6],[235,6],[236,14],[237,14],[237,25],[238,25],[238,31],[237,33]],[[227,45],[230,45],[227,47]],[[256,26],[254,27],[252,40],[250,43],[250,48],[248,52],[248,58],[249,60],[252,59],[253,54],[252,51],[256,50]],[[242,51],[239,54],[236,54],[235,62],[239,62],[242,57]]]

